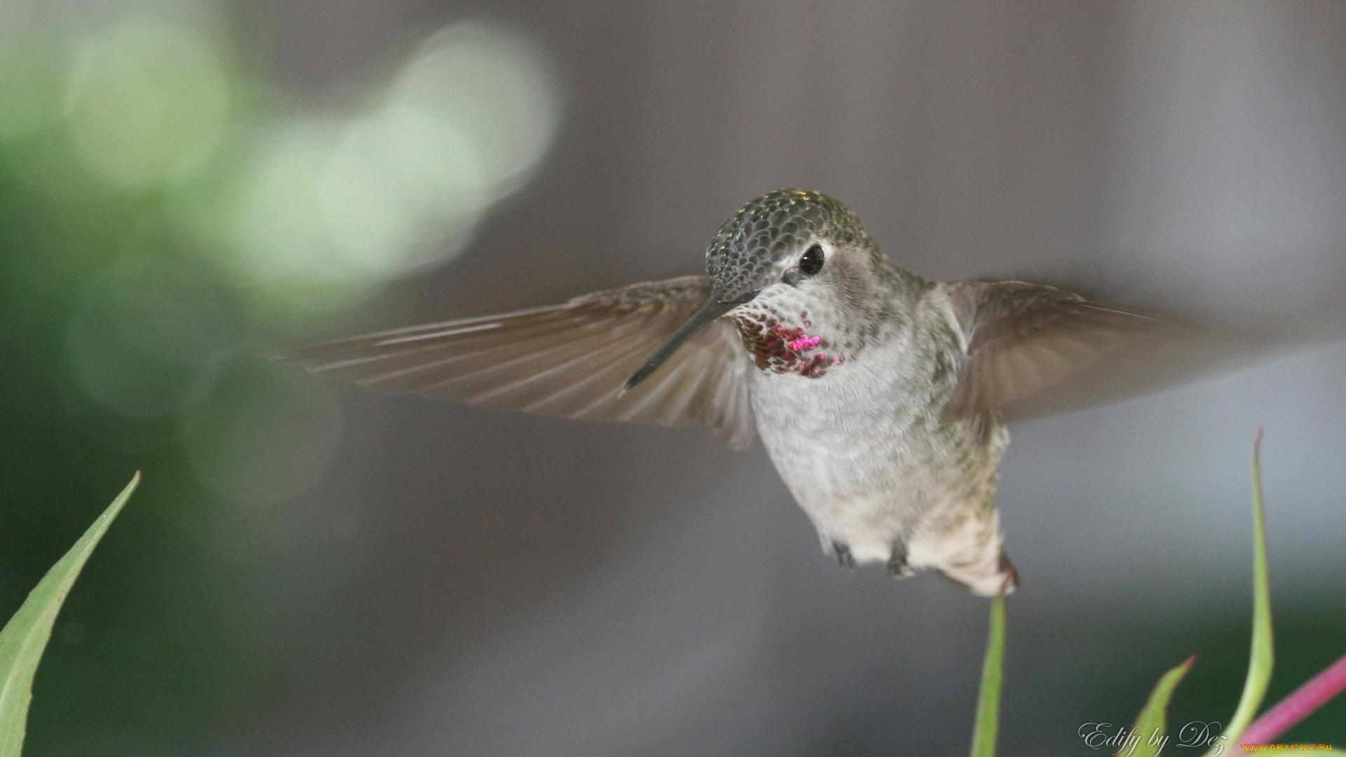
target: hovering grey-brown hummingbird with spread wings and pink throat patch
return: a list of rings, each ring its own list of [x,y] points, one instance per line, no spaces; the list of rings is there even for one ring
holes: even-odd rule
[[[1024,282],[925,279],[832,197],[770,191],[705,275],[291,349],[363,387],[577,420],[762,439],[844,567],[937,571],[977,595],[1019,577],[996,509],[1004,411],[1166,322]]]

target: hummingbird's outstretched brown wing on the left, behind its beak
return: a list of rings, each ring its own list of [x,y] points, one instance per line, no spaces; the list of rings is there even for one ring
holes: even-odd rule
[[[622,384],[709,298],[705,276],[631,284],[564,304],[287,350],[280,362],[396,393],[576,420],[705,426],[752,440],[747,352],[728,321],[696,334],[642,384]]]

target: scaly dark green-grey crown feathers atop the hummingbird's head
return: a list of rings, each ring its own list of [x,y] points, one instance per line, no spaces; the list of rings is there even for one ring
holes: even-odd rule
[[[705,251],[705,271],[721,300],[771,284],[774,265],[810,237],[870,242],[860,218],[820,191],[775,190],[743,206]]]

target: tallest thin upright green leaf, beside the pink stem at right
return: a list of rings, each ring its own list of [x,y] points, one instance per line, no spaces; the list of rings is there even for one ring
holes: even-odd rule
[[[1271,634],[1271,586],[1267,579],[1267,525],[1263,519],[1261,498],[1261,430],[1257,430],[1257,439],[1253,442],[1253,643],[1248,659],[1248,678],[1244,679],[1244,695],[1238,699],[1238,709],[1229,719],[1225,744],[1215,744],[1206,753],[1206,757],[1217,757],[1221,753],[1236,753],[1238,739],[1242,737],[1248,723],[1257,714],[1257,707],[1267,696],[1267,684],[1271,682],[1271,669],[1275,664]]]

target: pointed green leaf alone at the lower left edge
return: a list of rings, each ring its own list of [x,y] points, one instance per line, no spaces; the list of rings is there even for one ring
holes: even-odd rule
[[[19,757],[28,722],[28,702],[32,699],[32,675],[38,672],[42,651],[47,648],[57,613],[66,594],[79,577],[89,554],[108,531],[112,519],[140,484],[140,471],[117,494],[108,509],[93,521],[75,546],[51,566],[38,586],[28,593],[19,612],[0,630],[0,757]]]

